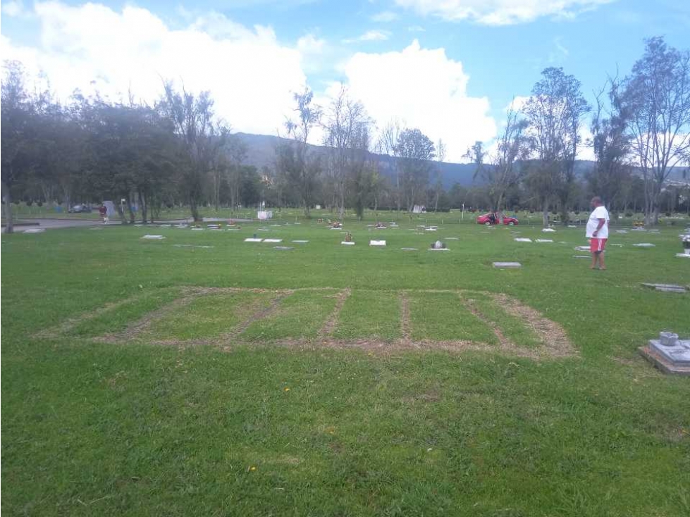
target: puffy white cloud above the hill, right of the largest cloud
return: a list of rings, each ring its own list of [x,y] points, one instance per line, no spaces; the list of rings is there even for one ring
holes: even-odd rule
[[[400,120],[433,142],[448,146],[446,161],[461,161],[476,140],[495,137],[486,97],[467,96],[469,77],[444,49],[422,49],[414,40],[400,52],[353,55],[345,65],[346,86],[383,127]],[[333,85],[331,94],[340,85]]]

